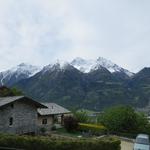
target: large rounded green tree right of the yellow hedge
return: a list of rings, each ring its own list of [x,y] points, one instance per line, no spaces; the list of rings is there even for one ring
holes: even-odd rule
[[[140,118],[141,117],[141,118]],[[99,117],[99,122],[111,132],[135,133],[142,116],[138,116],[132,107],[117,106],[109,108]]]

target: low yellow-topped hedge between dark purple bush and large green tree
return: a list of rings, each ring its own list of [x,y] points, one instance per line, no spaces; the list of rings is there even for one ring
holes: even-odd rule
[[[79,130],[81,131],[91,131],[93,134],[101,135],[107,133],[107,128],[102,125],[95,124],[83,124],[79,123]]]

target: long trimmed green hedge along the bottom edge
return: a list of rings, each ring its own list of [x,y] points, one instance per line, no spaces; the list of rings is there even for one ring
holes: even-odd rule
[[[0,147],[25,150],[120,150],[120,141],[106,139],[54,139],[44,137],[0,135]]]

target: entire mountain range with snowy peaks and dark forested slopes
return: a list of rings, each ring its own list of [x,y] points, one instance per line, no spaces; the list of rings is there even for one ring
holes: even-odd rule
[[[43,68],[22,63],[1,72],[0,85],[68,108],[145,107],[150,97],[150,68],[132,73],[102,57],[56,61]]]

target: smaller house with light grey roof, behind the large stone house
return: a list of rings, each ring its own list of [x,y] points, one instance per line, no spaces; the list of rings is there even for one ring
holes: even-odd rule
[[[55,103],[42,103],[48,108],[38,109],[38,126],[51,130],[54,124],[63,124],[63,118],[71,112]]]

